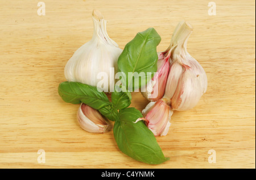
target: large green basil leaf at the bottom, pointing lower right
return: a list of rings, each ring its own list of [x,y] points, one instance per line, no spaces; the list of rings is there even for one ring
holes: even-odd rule
[[[164,157],[162,149],[156,142],[154,134],[139,121],[142,114],[135,108],[119,111],[119,120],[114,124],[114,138],[119,149],[137,161],[147,164],[161,164],[169,158]]]

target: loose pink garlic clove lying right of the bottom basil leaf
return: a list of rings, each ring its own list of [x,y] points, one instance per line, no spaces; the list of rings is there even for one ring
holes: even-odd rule
[[[166,98],[148,103],[142,110],[143,118],[137,119],[135,123],[139,120],[144,120],[155,136],[166,136],[171,125],[171,116],[174,112],[169,104],[170,100]]]

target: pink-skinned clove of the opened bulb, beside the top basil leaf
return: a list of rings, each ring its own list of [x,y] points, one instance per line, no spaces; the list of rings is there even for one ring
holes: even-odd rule
[[[158,101],[164,95],[166,81],[170,69],[170,55],[167,53],[158,53],[158,70],[156,75],[141,88],[141,94],[149,101]]]

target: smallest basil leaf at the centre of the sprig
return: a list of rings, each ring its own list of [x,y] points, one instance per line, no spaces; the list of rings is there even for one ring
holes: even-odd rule
[[[117,92],[114,91],[111,95],[111,101],[115,108],[123,110],[131,104],[131,93],[130,92]]]

